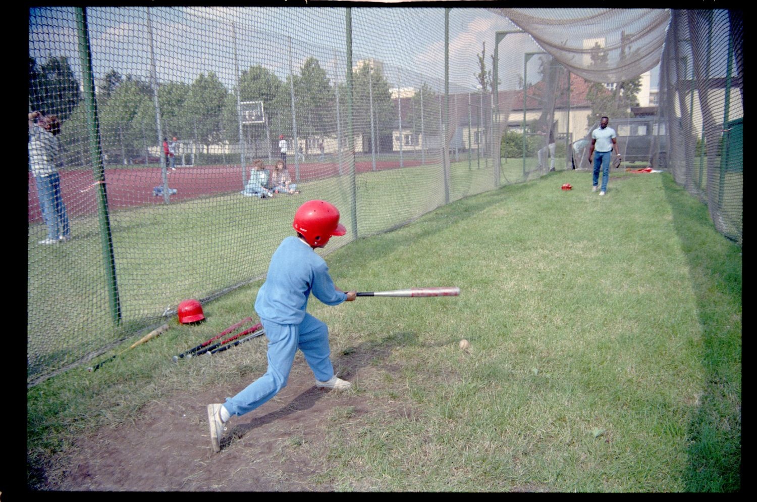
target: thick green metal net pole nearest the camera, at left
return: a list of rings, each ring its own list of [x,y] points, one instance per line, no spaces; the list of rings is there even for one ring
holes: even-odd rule
[[[107,210],[107,190],[105,189],[105,170],[102,164],[102,146],[100,142],[100,124],[98,122],[97,101],[95,100],[95,80],[92,76],[92,57],[89,50],[89,30],[84,8],[76,8],[76,32],[79,40],[79,64],[82,67],[83,98],[86,111],[86,123],[89,126],[89,154],[92,170],[97,183],[98,222],[100,226],[100,243],[105,265],[107,295],[111,304],[111,317],[116,324],[121,322],[121,304],[116,280],[116,258],[113,252],[113,235],[111,221]]]

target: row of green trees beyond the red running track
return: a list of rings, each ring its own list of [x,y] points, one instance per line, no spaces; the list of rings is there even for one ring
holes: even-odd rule
[[[30,108],[58,115],[63,123],[61,139],[67,164],[86,163],[89,152],[85,101],[67,58],[49,57],[43,64],[30,58],[29,76]],[[144,157],[148,148],[154,151],[162,138],[158,136],[156,93],[151,83],[111,69],[96,81],[95,89],[101,147],[107,162],[120,164]],[[242,134],[246,142],[275,143],[279,134],[293,137],[293,113],[298,138],[333,137],[339,127],[344,135],[346,96],[346,84],[330,80],[313,57],[304,61],[297,74],[284,80],[261,65],[248,67],[241,71],[236,88],[230,90],[210,71],[200,73],[192,83],[169,81],[157,85],[160,133],[169,139],[176,136],[191,140],[205,151],[210,145],[236,144],[240,142],[237,101],[263,101],[265,123],[245,125]],[[421,129],[426,134],[438,134],[438,93],[424,83],[416,89],[412,103],[412,120],[403,123],[403,128],[412,127],[416,134]],[[354,70],[352,109],[354,134],[363,136],[364,145],[370,145],[372,136],[377,142],[382,138],[391,142],[397,104],[391,98],[391,86],[382,65],[364,61]],[[337,117],[342,122],[339,125]]]

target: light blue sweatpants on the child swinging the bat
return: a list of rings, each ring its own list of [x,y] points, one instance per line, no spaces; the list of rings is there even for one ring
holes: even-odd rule
[[[286,387],[294,354],[300,349],[317,380],[326,382],[334,376],[329,355],[329,328],[326,323],[305,314],[300,324],[277,324],[260,320],[268,338],[266,373],[223,404],[229,415],[242,416],[273,398]]]

